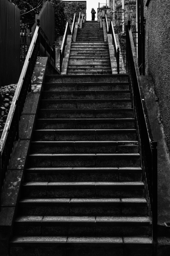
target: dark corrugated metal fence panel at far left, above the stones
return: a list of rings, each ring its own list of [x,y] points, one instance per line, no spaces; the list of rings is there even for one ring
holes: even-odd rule
[[[20,10],[0,0],[0,87],[20,77]]]

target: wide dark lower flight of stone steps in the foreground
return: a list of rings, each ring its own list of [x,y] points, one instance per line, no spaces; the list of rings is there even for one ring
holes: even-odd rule
[[[126,75],[46,76],[12,256],[149,256]]]

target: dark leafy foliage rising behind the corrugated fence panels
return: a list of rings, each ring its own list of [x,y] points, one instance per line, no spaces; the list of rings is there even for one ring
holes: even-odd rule
[[[11,0],[20,9],[20,27],[29,28],[35,23],[35,14],[39,14],[43,0]],[[64,11],[65,3],[62,0],[49,0],[55,11],[55,41],[64,34],[67,16]],[[50,18],[50,17],[49,17]]]

